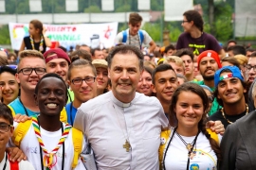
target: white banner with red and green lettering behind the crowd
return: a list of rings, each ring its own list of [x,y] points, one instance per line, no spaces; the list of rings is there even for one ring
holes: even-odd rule
[[[77,44],[87,44],[92,48],[109,48],[114,45],[118,34],[118,23],[81,24],[81,25],[44,25],[46,36],[51,42],[59,42],[69,49]],[[11,48],[19,50],[23,38],[29,36],[29,25],[21,23],[9,23],[9,36]]]

